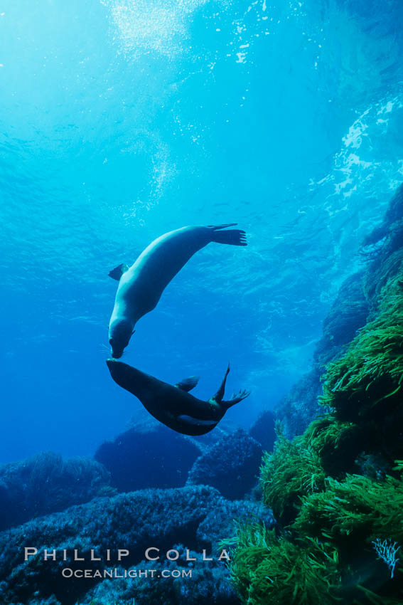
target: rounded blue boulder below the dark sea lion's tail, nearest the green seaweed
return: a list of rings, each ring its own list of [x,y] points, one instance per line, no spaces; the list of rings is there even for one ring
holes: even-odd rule
[[[261,461],[262,446],[239,428],[199,456],[188,485],[212,485],[225,498],[239,500],[257,483]]]

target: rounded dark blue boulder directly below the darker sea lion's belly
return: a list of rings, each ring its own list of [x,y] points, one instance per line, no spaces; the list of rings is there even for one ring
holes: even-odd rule
[[[183,487],[199,455],[196,443],[155,421],[139,423],[102,443],[95,459],[109,470],[115,488],[131,492]]]

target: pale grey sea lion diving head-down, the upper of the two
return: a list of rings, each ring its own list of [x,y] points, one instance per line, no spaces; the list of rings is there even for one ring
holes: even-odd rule
[[[110,277],[119,280],[109,321],[109,344],[115,359],[122,357],[136,322],[156,307],[164,288],[195,252],[211,241],[246,246],[245,231],[230,229],[237,223],[208,227],[182,227],[150,243],[134,265],[118,265]]]

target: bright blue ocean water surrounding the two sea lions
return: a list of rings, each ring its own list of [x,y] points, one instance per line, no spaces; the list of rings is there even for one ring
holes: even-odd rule
[[[157,236],[237,222],[123,360],[252,395],[309,367],[403,181],[399,0],[6,0],[0,12],[0,461],[91,454],[140,404],[104,363],[117,283]]]

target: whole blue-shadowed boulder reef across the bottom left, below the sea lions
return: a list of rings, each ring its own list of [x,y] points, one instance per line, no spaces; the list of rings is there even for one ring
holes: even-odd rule
[[[261,444],[229,425],[203,439],[145,419],[95,456],[63,461],[49,452],[0,468],[0,602],[152,605],[163,595],[166,605],[240,603],[219,542],[235,519],[274,523],[267,507],[245,498]],[[149,547],[161,558],[146,559]],[[35,554],[24,560],[26,548]],[[119,560],[119,549],[129,554]],[[88,577],[75,577],[82,569]]]

